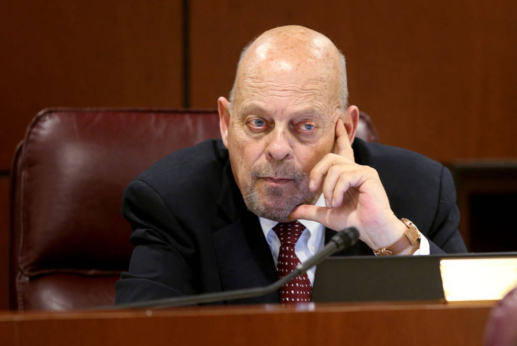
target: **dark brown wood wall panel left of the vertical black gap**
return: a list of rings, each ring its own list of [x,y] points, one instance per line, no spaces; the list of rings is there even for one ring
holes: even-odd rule
[[[181,106],[179,1],[9,1],[0,13],[0,167],[52,106]]]

